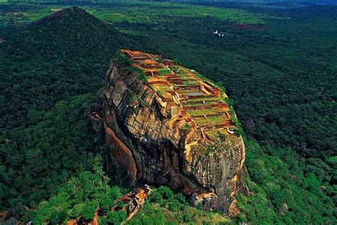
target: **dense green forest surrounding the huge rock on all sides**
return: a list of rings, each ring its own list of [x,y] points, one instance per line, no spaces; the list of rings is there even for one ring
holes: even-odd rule
[[[110,58],[125,47],[178,59],[226,88],[246,133],[251,192],[240,196],[234,221],[336,223],[337,7],[89,4],[82,8],[93,16],[72,8],[40,19],[65,7],[0,8],[1,210],[37,224],[89,219],[91,209],[112,206],[108,199],[125,191],[116,174],[106,171],[109,180],[102,172],[105,140],[87,116]],[[68,187],[86,177],[104,186],[90,193],[95,184],[83,182],[81,197],[69,199]],[[229,221],[165,187],[131,222],[151,219]]]

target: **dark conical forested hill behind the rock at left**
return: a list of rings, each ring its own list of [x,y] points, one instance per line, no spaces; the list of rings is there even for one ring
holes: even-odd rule
[[[1,127],[24,126],[29,109],[48,110],[58,100],[97,91],[122,39],[127,43],[114,28],[77,7],[11,37],[0,46],[1,98],[9,103],[1,105]]]

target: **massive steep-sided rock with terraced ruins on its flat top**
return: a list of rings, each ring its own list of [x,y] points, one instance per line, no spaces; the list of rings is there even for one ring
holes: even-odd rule
[[[168,185],[204,209],[237,214],[245,146],[225,93],[194,70],[129,50],[112,58],[107,83],[107,143],[133,184]]]

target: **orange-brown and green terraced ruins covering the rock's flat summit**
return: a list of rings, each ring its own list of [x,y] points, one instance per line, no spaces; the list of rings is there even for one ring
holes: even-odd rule
[[[123,49],[132,66],[141,70],[149,85],[163,101],[171,105],[171,117],[185,121],[180,127],[188,133],[200,130],[203,139],[234,135],[236,127],[225,99],[227,95],[218,86],[195,70],[158,55]]]

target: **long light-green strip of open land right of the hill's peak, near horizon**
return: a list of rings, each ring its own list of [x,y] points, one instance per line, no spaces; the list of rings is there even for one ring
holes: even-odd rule
[[[234,23],[264,23],[263,15],[252,14],[239,9],[225,9],[205,6],[193,6],[188,4],[174,4],[167,2],[144,2],[141,4],[124,4],[114,8],[89,9],[103,21],[108,23],[160,23],[167,19],[174,19],[177,16],[183,17],[205,17],[211,16],[223,21]]]

